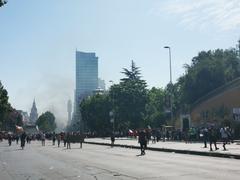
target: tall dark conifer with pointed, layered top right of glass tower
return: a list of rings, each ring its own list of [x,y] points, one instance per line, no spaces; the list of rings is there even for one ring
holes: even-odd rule
[[[124,68],[122,73],[126,77],[110,89],[116,125],[119,129],[139,128],[144,124],[147,85],[133,61],[130,70]]]

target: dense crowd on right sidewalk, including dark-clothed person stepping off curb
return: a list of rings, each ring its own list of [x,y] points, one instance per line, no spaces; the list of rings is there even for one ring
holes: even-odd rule
[[[150,141],[156,143],[158,141],[185,141],[185,143],[203,142],[204,148],[209,143],[210,151],[218,150],[217,142],[221,142],[223,150],[226,151],[226,144],[233,143],[233,130],[229,127],[217,128],[215,126],[189,128],[185,131],[175,130],[174,128],[159,129],[139,129],[132,131],[130,135],[138,137],[141,155],[145,154],[145,149]],[[214,146],[214,147],[213,147]]]

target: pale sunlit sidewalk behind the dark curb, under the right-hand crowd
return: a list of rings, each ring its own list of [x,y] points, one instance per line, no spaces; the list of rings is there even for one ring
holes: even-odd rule
[[[110,146],[111,140],[110,138],[87,138],[85,143]],[[116,138],[114,146],[139,149],[138,141],[134,138]],[[159,141],[153,144],[150,141],[147,150],[240,159],[240,145],[238,143],[227,144],[227,151],[223,151],[222,143],[218,143],[219,149],[212,152],[209,150],[209,144],[208,148],[203,148],[203,146],[203,143],[186,144],[185,142]]]

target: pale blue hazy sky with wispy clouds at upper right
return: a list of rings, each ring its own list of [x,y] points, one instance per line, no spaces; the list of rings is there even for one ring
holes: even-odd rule
[[[235,47],[239,0],[8,0],[0,8],[0,81],[11,105],[67,121],[75,51],[95,52],[99,77],[118,83],[133,60],[148,87],[173,82],[200,51]]]

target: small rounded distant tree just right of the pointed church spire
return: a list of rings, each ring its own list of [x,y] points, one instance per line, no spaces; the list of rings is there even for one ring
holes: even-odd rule
[[[56,129],[55,116],[47,111],[39,116],[36,125],[41,131],[52,132]]]

